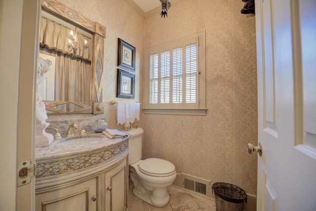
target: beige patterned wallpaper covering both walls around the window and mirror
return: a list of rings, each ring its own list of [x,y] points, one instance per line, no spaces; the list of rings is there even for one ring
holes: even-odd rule
[[[112,99],[143,102],[144,50],[206,31],[206,116],[143,115],[143,159],[172,162],[177,172],[233,183],[256,194],[257,156],[247,143],[257,144],[257,81],[255,17],[243,15],[241,0],[184,0],[168,17],[143,19],[125,0],[60,0],[107,28],[105,39],[104,115],[49,115],[47,122],[67,130],[77,121],[104,118],[118,128]],[[116,98],[117,39],[136,47],[135,99]],[[76,132],[79,132],[76,131]]]

